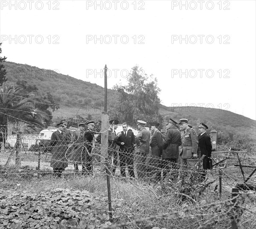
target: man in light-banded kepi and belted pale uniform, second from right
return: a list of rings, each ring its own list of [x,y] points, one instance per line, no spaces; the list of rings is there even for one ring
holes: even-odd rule
[[[198,158],[198,136],[194,129],[189,128],[188,119],[180,119],[180,136],[181,136],[181,150],[180,150],[180,170],[186,169],[188,163],[187,159]]]

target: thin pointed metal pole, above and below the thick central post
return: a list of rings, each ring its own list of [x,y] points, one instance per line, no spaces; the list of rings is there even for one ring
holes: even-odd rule
[[[108,91],[107,91],[107,64],[105,65],[104,69],[104,79],[105,79],[105,99],[104,99],[104,111],[107,112],[107,99],[108,99]],[[108,157],[108,155],[107,155]],[[109,211],[109,219],[111,222],[113,222],[112,218],[112,205],[111,205],[111,189],[110,189],[110,180],[109,180],[109,164],[108,164],[108,158],[106,158],[106,172],[107,172],[107,186],[108,186],[108,211]]]

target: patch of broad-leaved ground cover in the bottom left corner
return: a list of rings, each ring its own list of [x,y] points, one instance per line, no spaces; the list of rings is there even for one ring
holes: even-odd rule
[[[88,191],[55,188],[41,194],[15,191],[0,195],[0,220],[5,228],[95,228],[108,225],[99,198]],[[103,200],[104,201],[104,200]]]

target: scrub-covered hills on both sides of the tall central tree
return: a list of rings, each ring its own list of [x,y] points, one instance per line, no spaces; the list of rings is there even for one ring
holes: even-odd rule
[[[15,84],[18,79],[23,79],[28,84],[36,85],[42,95],[48,91],[51,92],[54,100],[61,105],[59,110],[53,112],[53,122],[63,118],[73,118],[76,115],[86,117],[88,114],[91,114],[96,121],[101,119],[104,88],[99,85],[27,64],[6,62],[5,67],[8,72],[8,83]],[[116,98],[116,91],[108,90],[108,101],[116,101]],[[196,130],[198,124],[204,122],[210,130],[217,130],[230,140],[256,139],[256,121],[230,111],[207,110],[200,107],[190,109],[175,107],[174,109],[161,105],[160,113],[165,120],[172,118],[178,121],[181,118],[187,118],[189,124]]]

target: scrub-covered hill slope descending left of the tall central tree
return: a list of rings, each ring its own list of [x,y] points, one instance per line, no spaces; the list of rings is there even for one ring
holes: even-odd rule
[[[42,95],[50,91],[55,101],[62,106],[79,107],[91,103],[104,103],[104,90],[97,84],[27,64],[6,62],[5,68],[8,82],[15,84],[17,80],[26,80],[28,84],[36,85]],[[108,90],[108,99],[115,98],[116,92]]]

